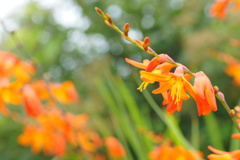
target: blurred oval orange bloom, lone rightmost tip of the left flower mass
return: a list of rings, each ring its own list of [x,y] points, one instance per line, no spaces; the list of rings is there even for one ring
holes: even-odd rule
[[[111,157],[122,158],[125,156],[125,149],[115,137],[107,137],[105,144]]]

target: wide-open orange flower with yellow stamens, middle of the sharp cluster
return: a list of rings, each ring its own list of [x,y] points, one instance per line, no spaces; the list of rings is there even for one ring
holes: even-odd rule
[[[195,95],[193,86],[188,82],[189,75],[184,75],[183,66],[177,67],[174,73],[168,75],[144,71],[140,73],[147,79],[160,82],[160,87],[153,90],[152,93],[163,94],[164,104],[168,104],[167,111],[170,114],[181,110],[182,101],[189,98],[186,90],[191,95]]]

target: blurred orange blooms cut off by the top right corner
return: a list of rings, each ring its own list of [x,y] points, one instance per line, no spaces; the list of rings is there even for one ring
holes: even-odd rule
[[[240,10],[240,0],[216,0],[210,8],[210,14],[218,19],[225,19],[230,2],[234,3],[235,10]]]

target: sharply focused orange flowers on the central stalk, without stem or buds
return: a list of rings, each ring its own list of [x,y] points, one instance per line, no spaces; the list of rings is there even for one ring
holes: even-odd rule
[[[204,72],[190,73],[185,66],[174,62],[166,54],[160,54],[152,60],[146,59],[143,63],[128,58],[125,60],[135,67],[144,69],[140,71],[140,78],[143,81],[138,88],[140,91],[146,89],[148,84],[159,83],[159,88],[152,93],[162,94],[163,105],[167,105],[167,111],[170,114],[181,111],[182,102],[190,98],[189,94],[197,103],[199,116],[217,110],[213,86]],[[172,72],[174,64],[177,64],[177,67]],[[195,79],[194,85],[189,82],[191,78]]]

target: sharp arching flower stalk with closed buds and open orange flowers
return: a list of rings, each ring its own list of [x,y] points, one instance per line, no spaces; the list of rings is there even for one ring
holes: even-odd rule
[[[159,82],[160,87],[153,91],[154,94],[162,94],[163,104],[168,104],[167,111],[172,114],[174,111],[180,111],[182,101],[187,100],[189,95],[185,93],[187,90],[189,94],[195,99],[198,107],[198,114],[207,115],[211,111],[216,111],[215,97],[221,102],[225,110],[230,115],[235,127],[240,132],[240,126],[237,123],[234,110],[231,110],[225,101],[224,95],[219,91],[218,87],[213,87],[209,78],[202,72],[192,73],[184,65],[175,62],[167,54],[158,55],[153,49],[149,47],[150,38],[146,37],[144,41],[132,39],[129,37],[130,24],[126,23],[121,31],[112,21],[109,14],[105,14],[101,9],[95,7],[97,13],[104,19],[104,22],[120,33],[122,37],[133,43],[143,51],[155,56],[151,61],[144,61],[143,63],[135,62],[126,58],[126,61],[138,68],[145,69],[140,71],[143,83],[138,88],[140,91],[146,89],[148,84]],[[168,63],[168,65],[167,65]],[[170,65],[170,66],[169,66]],[[167,67],[166,67],[167,66]],[[174,73],[170,70],[176,67]],[[194,78],[194,86],[188,81]],[[167,87],[166,87],[167,86]]]

